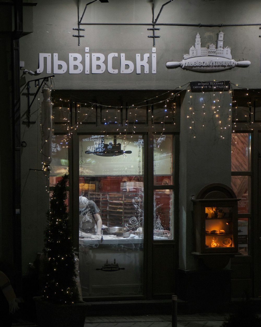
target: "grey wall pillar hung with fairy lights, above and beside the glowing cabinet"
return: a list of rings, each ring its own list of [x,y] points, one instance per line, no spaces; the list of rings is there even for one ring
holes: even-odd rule
[[[191,254],[195,251],[191,241],[195,237],[191,198],[211,183],[231,187],[231,101],[230,92],[187,92],[182,103],[179,180],[181,269],[193,270],[197,266],[197,259]],[[216,103],[222,103],[221,109],[215,106]]]

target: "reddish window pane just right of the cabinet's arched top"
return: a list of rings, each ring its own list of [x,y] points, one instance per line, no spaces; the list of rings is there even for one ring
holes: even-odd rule
[[[238,201],[238,213],[250,212],[250,176],[231,176],[231,188],[235,192]]]

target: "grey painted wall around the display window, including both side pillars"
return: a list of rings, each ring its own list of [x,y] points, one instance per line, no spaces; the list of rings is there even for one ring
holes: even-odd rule
[[[96,3],[87,7],[84,22],[92,23],[151,23],[152,3],[149,0],[109,0],[109,3]],[[81,17],[86,1],[79,1],[79,16]],[[157,16],[165,0],[155,1],[155,17]],[[158,23],[172,24],[258,24],[260,21],[261,5],[258,0],[226,1],[226,0],[175,0],[166,5]],[[154,17],[154,18],[155,18]],[[195,43],[196,34],[201,36],[202,46],[206,47],[216,43],[217,33],[220,27],[199,26],[157,26],[160,31],[156,35],[160,38],[155,40],[156,74],[152,69],[153,39],[148,38],[152,26],[83,26],[81,31],[85,37],[78,39],[73,37],[77,31],[78,8],[77,1],[71,0],[39,0],[33,7],[33,33],[25,35],[20,40],[20,60],[25,62],[25,69],[37,71],[39,67],[39,53],[50,53],[52,66],[50,73],[45,70],[40,74],[30,76],[23,75],[21,71],[21,94],[26,92],[26,83],[37,77],[42,78],[53,74],[53,54],[58,54],[58,60],[67,63],[67,71],[64,74],[55,74],[52,82],[53,89],[83,89],[83,90],[173,90],[182,86],[189,89],[190,81],[206,80],[230,80],[233,88],[239,85],[243,88],[259,88],[260,79],[260,52],[261,38],[259,38],[259,26],[223,26],[224,46],[231,48],[232,58],[238,60],[250,60],[251,65],[247,68],[235,67],[231,70],[215,73],[200,73],[183,70],[178,67],[167,69],[167,61],[181,61],[183,55],[189,52],[189,48]],[[86,52],[89,47],[89,52]],[[69,74],[69,53],[80,54],[83,58],[85,70],[85,54],[102,53],[107,58],[110,53],[117,53],[113,58],[113,68],[118,69],[118,74],[111,74],[106,70],[102,74]],[[126,60],[134,62],[134,71],[131,74],[120,73],[120,54],[125,54]],[[149,74],[136,73],[136,54],[149,56]],[[90,60],[91,64],[91,60]],[[30,92],[35,92],[37,88]],[[204,95],[209,104],[209,98]],[[225,138],[220,138],[216,121],[213,120],[213,112],[209,111],[206,118],[206,128],[202,129],[202,111],[200,95],[195,95],[193,103],[197,116],[194,134],[189,129],[191,119],[189,116],[190,93],[185,95],[181,109],[181,172],[180,172],[180,203],[181,211],[181,250],[186,253],[181,257],[180,267],[192,269],[193,261],[190,257],[191,248],[188,248],[188,240],[191,237],[191,208],[190,195],[197,194],[208,183],[230,183],[230,133]],[[32,99],[32,97],[31,97]],[[22,121],[27,121],[27,98],[21,96]],[[43,228],[46,224],[45,212],[47,210],[48,193],[46,186],[48,181],[41,171],[41,101],[39,93],[31,107],[31,122],[29,125],[21,125],[21,141],[27,146],[22,150],[22,233],[23,237],[23,271],[26,272],[27,263],[36,258],[37,252],[43,247]],[[230,102],[228,93],[223,95],[221,109],[227,117]],[[209,109],[209,107],[208,107]],[[192,136],[193,135],[193,136]],[[210,154],[213,154],[211,156]],[[204,171],[204,174],[201,172]],[[199,175],[199,173],[201,175]]]

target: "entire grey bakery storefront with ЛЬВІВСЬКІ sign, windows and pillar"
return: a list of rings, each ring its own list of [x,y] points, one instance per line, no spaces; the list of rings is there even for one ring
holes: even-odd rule
[[[172,294],[195,301],[214,277],[225,289],[217,299],[261,295],[259,7],[222,0],[24,5],[21,241],[13,240],[22,275],[42,251],[52,186],[69,173],[88,301]],[[51,90],[47,129],[43,89]],[[53,132],[45,140],[46,130]],[[227,262],[196,251],[193,200],[212,184],[238,199],[231,247],[235,239],[238,246]],[[79,196],[98,206],[102,239],[81,228]]]

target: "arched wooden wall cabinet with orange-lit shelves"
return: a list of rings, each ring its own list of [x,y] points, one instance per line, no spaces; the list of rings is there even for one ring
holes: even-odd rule
[[[211,184],[193,199],[194,254],[237,253],[237,202],[226,185]]]

